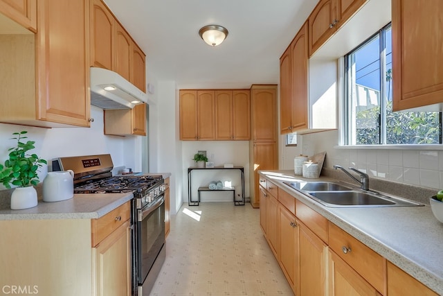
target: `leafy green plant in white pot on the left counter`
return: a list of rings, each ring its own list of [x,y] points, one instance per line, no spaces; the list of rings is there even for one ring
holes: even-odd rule
[[[8,189],[11,185],[17,186],[12,191],[11,209],[28,209],[37,205],[37,191],[33,186],[39,183],[37,171],[47,164],[45,159],[28,153],[35,148],[35,141],[21,141],[27,138],[23,136],[27,133],[26,130],[13,133],[16,137],[11,139],[17,140],[17,146],[8,149],[9,158],[4,165],[0,164],[1,184]]]

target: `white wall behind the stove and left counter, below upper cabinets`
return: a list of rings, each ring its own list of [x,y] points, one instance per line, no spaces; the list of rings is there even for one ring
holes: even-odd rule
[[[103,110],[91,106],[94,121],[91,128],[36,128],[0,123],[0,162],[8,158],[8,148],[16,145],[13,132],[27,130],[28,139],[35,141],[35,153],[47,159],[77,155],[111,154],[114,166],[126,166],[141,171],[141,137],[117,137],[103,134]],[[49,166],[51,170],[51,166]],[[44,173],[44,172],[43,172]],[[43,180],[44,175],[40,178]],[[2,187],[3,188],[3,187]]]

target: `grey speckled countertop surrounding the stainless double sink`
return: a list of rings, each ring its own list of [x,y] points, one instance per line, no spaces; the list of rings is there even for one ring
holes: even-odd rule
[[[259,173],[443,295],[443,223],[433,216],[428,204],[424,207],[325,207],[282,182],[315,182],[331,178],[303,179],[294,175],[293,171]]]

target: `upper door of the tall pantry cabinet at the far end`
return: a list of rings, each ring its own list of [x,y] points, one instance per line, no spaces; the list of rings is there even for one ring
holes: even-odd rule
[[[275,141],[277,138],[277,89],[275,87],[251,88],[251,109],[253,140]]]

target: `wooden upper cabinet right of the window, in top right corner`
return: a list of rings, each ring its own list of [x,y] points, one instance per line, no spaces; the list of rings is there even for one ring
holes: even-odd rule
[[[392,0],[392,109],[441,111],[443,1]]]

